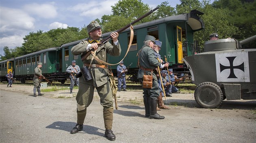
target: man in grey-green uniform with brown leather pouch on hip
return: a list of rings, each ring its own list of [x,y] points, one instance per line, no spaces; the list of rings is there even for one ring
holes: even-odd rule
[[[147,35],[144,40],[144,46],[142,46],[138,53],[140,66],[138,71],[138,80],[142,83],[144,74],[153,76],[152,88],[143,88],[145,117],[150,117],[151,119],[164,119],[165,117],[160,116],[156,111],[160,90],[158,88],[154,69],[157,68],[157,66],[161,66],[163,60],[157,59],[155,56],[155,52],[153,50],[154,44],[156,43],[155,40],[154,36]]]

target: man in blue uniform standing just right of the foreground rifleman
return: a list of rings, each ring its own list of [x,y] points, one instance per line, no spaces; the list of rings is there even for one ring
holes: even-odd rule
[[[121,86],[123,84],[123,90],[126,90],[126,66],[124,65],[124,61],[121,61],[121,63],[117,66],[117,80],[118,80],[118,91],[121,91]]]

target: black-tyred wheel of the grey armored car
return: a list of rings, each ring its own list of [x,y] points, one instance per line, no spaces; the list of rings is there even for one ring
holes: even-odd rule
[[[195,101],[204,108],[219,107],[223,101],[221,88],[213,82],[203,82],[195,88]]]

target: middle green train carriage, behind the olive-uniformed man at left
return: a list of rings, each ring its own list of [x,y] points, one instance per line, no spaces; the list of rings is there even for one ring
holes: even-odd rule
[[[43,63],[41,68],[43,76],[49,80],[59,80],[61,75],[59,75],[60,54],[58,49],[48,48],[15,58],[15,79],[20,80],[22,83],[25,83],[26,80],[33,80],[34,69],[37,67],[37,63]]]

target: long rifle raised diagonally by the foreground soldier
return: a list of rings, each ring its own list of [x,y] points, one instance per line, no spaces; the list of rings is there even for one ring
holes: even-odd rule
[[[136,19],[135,21],[132,21],[131,23],[129,23],[128,25],[122,27],[121,29],[118,29],[116,32],[117,33],[121,33],[123,32],[125,29],[127,29],[128,27],[130,27],[130,25],[133,25],[135,23],[137,23],[138,21],[140,21],[141,19],[147,17],[148,15],[150,15],[151,13],[153,13],[154,11],[156,11],[159,7],[156,7],[152,10],[150,10],[148,13],[146,13],[145,15],[142,15],[141,17],[139,17],[138,19]],[[98,45],[99,47],[102,46],[103,44],[105,44],[106,42],[108,42],[108,40],[111,39],[111,36],[109,35],[108,37],[106,37],[106,39],[103,39],[100,41],[100,45]],[[94,48],[91,48],[88,51],[85,51],[84,53],[82,53],[81,55],[81,60],[84,61],[89,55],[91,55],[91,52],[94,51]]]

